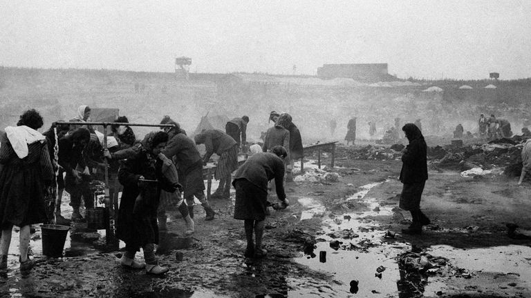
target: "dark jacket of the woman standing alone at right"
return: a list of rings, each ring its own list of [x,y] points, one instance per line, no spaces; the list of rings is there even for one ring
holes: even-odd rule
[[[400,181],[402,183],[417,183],[428,179],[428,166],[426,159],[427,146],[424,138],[413,139],[402,155],[402,170]]]

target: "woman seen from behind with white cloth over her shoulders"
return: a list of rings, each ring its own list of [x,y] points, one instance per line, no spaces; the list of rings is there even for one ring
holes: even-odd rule
[[[37,132],[43,124],[36,110],[21,115],[17,127],[8,126],[0,146],[0,270],[8,268],[8,251],[13,226],[20,227],[20,270],[28,272],[30,226],[47,220],[45,189],[54,178],[46,137]]]

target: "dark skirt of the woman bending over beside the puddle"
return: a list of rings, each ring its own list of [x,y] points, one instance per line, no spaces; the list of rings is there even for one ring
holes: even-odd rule
[[[255,186],[247,179],[236,179],[234,188],[236,188],[234,219],[264,220],[268,192]]]

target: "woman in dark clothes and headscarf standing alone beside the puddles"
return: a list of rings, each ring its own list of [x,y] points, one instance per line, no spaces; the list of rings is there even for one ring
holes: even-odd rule
[[[402,127],[402,130],[409,141],[409,145],[404,148],[402,155],[400,182],[404,186],[400,195],[399,207],[411,212],[413,218],[411,226],[402,229],[402,232],[420,234],[422,226],[427,226],[430,223],[428,217],[420,210],[420,197],[428,179],[427,146],[422,132],[415,124],[407,123]]]

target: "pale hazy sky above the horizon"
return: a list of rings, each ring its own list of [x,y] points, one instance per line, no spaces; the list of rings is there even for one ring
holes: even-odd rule
[[[531,77],[531,1],[0,0],[0,65],[399,77]]]

